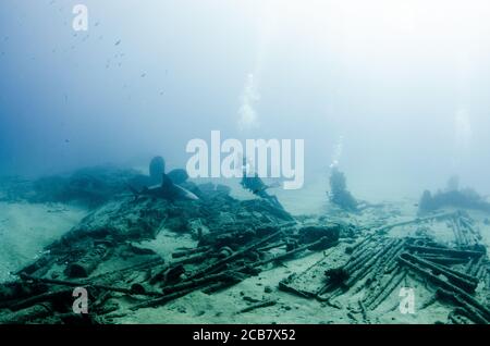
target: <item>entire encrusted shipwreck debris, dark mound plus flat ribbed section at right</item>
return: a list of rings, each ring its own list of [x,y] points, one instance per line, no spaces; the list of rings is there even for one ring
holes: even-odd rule
[[[110,184],[82,174],[86,181],[101,182],[103,188],[85,186],[90,193],[105,191],[103,197],[96,194],[89,203],[91,211],[77,226],[15,273],[17,280],[0,285],[0,323],[114,323],[131,311],[159,308],[195,291],[213,295],[318,252],[323,254],[318,261],[283,277],[277,288],[316,299],[324,309],[342,309],[342,296],[355,297],[347,314],[353,321],[371,323],[376,322],[371,312],[397,297],[411,279],[424,283],[429,293],[417,309],[440,304],[448,311],[448,323],[490,321],[487,250],[478,223],[466,211],[439,211],[407,220],[394,215],[392,222],[371,218],[369,223],[292,217],[264,198],[238,200],[224,185],[193,184],[182,171],[169,173],[173,181],[168,184],[182,186],[198,198],[167,198],[164,165],[157,171],[151,180],[161,184],[163,193],[156,194],[139,186],[127,193],[127,181],[149,180],[128,171],[110,171],[117,176]],[[158,178],[160,174],[163,180]],[[73,186],[73,180],[56,184],[58,198],[66,198],[66,185]],[[333,180],[332,186],[340,187],[333,191],[335,198],[356,210],[352,196],[344,193],[344,177],[338,174]],[[37,196],[27,194],[28,198],[53,198],[47,185],[42,189],[34,185]],[[76,196],[87,201],[87,194],[78,190]],[[453,240],[433,237],[431,228],[439,224],[452,230]],[[411,227],[414,234],[391,232]],[[197,246],[175,248],[170,260],[140,246],[162,230],[192,235]],[[89,294],[87,314],[73,311],[75,287],[85,287]],[[274,301],[256,301],[238,312]]]

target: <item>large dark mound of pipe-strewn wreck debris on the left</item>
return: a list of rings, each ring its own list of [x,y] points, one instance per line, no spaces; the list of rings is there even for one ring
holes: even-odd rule
[[[127,308],[158,307],[196,289],[212,294],[331,247],[342,233],[340,224],[303,227],[266,200],[232,198],[225,186],[198,189],[199,200],[126,196],[94,210],[19,271],[17,281],[0,286],[0,323],[110,323]],[[176,250],[170,261],[135,245],[162,228],[191,233],[198,245]],[[88,314],[72,311],[75,287],[87,288]]]

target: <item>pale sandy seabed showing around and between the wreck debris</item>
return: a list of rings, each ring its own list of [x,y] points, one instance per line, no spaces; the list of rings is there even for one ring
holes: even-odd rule
[[[236,184],[232,185],[235,198],[250,198]],[[286,210],[293,214],[322,214],[328,208],[324,186],[306,186],[302,191],[277,190]],[[392,202],[400,212],[400,219],[413,219],[416,215],[416,200],[404,199]],[[33,262],[50,243],[76,225],[87,213],[86,210],[73,206],[58,203],[0,203],[0,282],[12,279],[14,272]],[[486,215],[474,213],[471,217],[481,221]],[[357,217],[354,217],[357,218]],[[363,219],[364,218],[364,219]],[[369,222],[372,215],[359,217],[354,221],[358,224]],[[482,224],[481,222],[479,223]],[[392,236],[411,235],[409,227],[394,228]],[[490,226],[480,227],[482,243],[489,247]],[[452,234],[446,228],[433,230],[434,236],[441,242],[450,242]],[[177,247],[194,247],[196,242],[186,234],[174,234],[163,230],[154,240],[143,242],[143,247],[170,259],[170,254]],[[335,258],[331,248],[324,252],[311,252],[308,256],[287,261],[261,272],[257,276],[244,280],[223,292],[207,295],[194,292],[182,298],[170,301],[159,308],[139,309],[137,311],[114,316],[114,323],[436,323],[445,322],[450,309],[438,301],[430,302],[433,293],[427,285],[407,277],[404,286],[415,289],[416,311],[413,314],[401,313],[400,297],[395,289],[376,310],[367,317],[359,318],[356,313],[359,292],[352,289],[338,300],[338,307],[315,299],[305,299],[278,289],[279,282],[294,272],[302,272],[326,256]],[[109,264],[100,265],[97,272],[110,271]],[[241,313],[250,301],[273,299],[275,304],[250,312]],[[127,301],[131,305],[132,301]],[[425,307],[428,305],[427,307]],[[422,310],[417,310],[424,307]]]

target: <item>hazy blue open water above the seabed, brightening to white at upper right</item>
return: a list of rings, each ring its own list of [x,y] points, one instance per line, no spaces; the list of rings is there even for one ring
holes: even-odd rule
[[[304,138],[307,184],[341,145],[355,194],[451,174],[490,194],[489,17],[485,0],[2,0],[0,175],[184,165],[220,129]]]

